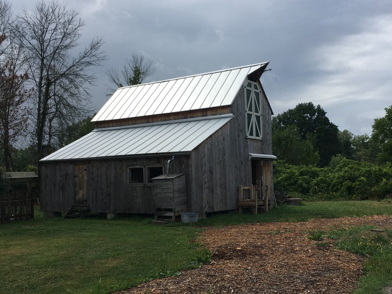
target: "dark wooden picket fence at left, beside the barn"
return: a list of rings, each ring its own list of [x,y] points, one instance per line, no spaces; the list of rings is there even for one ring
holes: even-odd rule
[[[34,219],[34,202],[29,191],[11,190],[0,193],[0,223]]]

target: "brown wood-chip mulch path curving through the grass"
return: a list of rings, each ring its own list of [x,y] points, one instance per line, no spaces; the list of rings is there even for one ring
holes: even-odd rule
[[[363,258],[337,250],[333,240],[317,246],[315,230],[361,224],[392,228],[390,216],[318,219],[209,228],[201,242],[211,264],[156,279],[118,294],[351,293],[362,274]]]

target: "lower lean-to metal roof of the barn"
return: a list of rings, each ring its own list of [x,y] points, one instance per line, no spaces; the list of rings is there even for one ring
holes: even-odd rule
[[[231,120],[233,115],[101,128],[40,161],[144,154],[187,153]]]

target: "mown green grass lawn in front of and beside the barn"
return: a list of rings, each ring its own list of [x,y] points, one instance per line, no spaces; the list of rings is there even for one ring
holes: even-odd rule
[[[0,294],[109,293],[208,262],[208,250],[193,242],[206,226],[391,214],[391,207],[388,201],[304,202],[268,214],[216,214],[164,226],[152,225],[152,218],[50,220],[37,213],[33,221],[0,226]]]

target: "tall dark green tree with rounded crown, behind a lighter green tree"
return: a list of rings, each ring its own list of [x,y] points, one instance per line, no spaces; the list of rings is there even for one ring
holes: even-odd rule
[[[338,127],[329,121],[320,105],[315,106],[312,102],[300,103],[294,109],[278,114],[274,117],[272,132],[286,129],[289,125],[298,129],[302,140],[313,143],[319,152],[319,166],[328,165],[332,156],[340,153]]]

